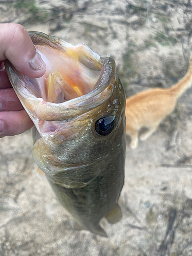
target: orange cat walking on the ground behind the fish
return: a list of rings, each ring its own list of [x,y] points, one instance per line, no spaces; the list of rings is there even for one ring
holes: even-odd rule
[[[190,87],[192,81],[192,56],[185,76],[168,89],[155,88],[140,92],[126,99],[126,134],[131,137],[132,150],[138,146],[138,133],[142,127],[148,130],[140,136],[141,141],[147,140],[158,125],[175,108],[177,99]]]

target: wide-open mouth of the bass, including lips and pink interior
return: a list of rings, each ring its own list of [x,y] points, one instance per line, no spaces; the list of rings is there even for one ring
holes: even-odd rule
[[[46,63],[45,75],[35,79],[19,74],[8,60],[5,66],[35,125],[36,119],[56,121],[81,115],[110,97],[115,75],[112,58],[100,58],[84,44],[73,46],[40,32],[29,35]]]

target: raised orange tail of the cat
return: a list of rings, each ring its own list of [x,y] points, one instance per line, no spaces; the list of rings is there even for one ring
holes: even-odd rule
[[[170,88],[170,91],[175,95],[176,98],[179,98],[185,90],[191,86],[192,82],[192,55],[189,59],[189,65],[185,76],[177,82],[173,87]]]

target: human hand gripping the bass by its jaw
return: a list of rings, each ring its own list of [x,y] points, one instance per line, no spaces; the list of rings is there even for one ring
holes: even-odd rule
[[[41,77],[46,71],[45,63],[24,27],[0,24],[0,138],[23,133],[33,126],[11,86],[3,64],[5,59],[29,77]]]

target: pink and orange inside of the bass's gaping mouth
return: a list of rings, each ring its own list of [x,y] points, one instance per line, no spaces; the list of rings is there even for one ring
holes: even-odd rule
[[[29,34],[46,63],[45,75],[37,79],[37,83],[29,83],[36,97],[52,103],[62,103],[93,90],[102,66],[97,54],[90,54],[84,44],[73,47],[66,43],[63,46],[58,38],[37,32]]]

